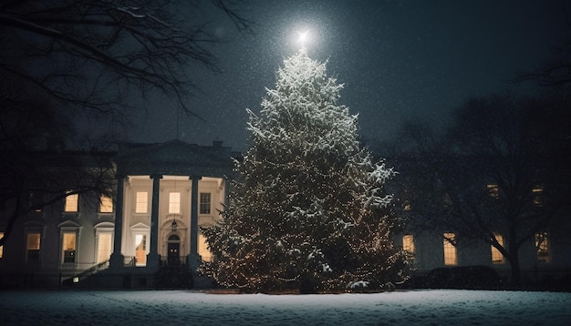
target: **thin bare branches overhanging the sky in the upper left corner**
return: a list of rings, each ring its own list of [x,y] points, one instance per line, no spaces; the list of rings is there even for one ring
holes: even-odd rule
[[[121,113],[151,91],[178,100],[197,87],[191,69],[216,71],[209,21],[225,14],[250,25],[236,1],[5,1],[0,5],[0,76],[18,79],[59,105]],[[130,97],[130,99],[128,99]]]

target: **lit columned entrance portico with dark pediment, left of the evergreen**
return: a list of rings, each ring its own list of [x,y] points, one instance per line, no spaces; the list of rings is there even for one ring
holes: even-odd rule
[[[231,155],[220,142],[122,144],[110,268],[186,264],[195,271],[210,260],[199,227],[220,219]]]

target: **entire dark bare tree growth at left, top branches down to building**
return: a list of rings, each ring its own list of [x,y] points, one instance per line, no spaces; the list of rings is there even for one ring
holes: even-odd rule
[[[249,31],[236,2],[210,3],[0,4],[0,206],[6,209],[0,245],[16,219],[62,200],[69,189],[112,195],[109,157],[99,152],[112,139],[89,144],[98,149],[86,153],[62,152],[78,138],[78,111],[126,123],[127,108],[140,104],[130,102],[157,91],[194,115],[186,105],[198,87],[192,69],[217,71],[212,46],[219,39],[209,32],[209,19],[221,13]]]

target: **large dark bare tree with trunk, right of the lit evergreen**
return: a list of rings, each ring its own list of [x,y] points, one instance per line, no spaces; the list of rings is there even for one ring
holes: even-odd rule
[[[519,283],[519,249],[563,222],[569,208],[567,111],[554,100],[491,96],[466,101],[440,135],[418,124],[404,127],[409,141],[395,165],[410,205],[409,228],[451,229],[458,241],[490,244]]]

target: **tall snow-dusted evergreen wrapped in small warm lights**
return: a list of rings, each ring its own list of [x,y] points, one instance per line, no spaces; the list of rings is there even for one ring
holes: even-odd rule
[[[404,280],[393,247],[395,175],[358,142],[357,116],[338,105],[343,86],[304,49],[278,69],[223,220],[202,229],[216,260],[201,271],[244,290],[337,291]]]

